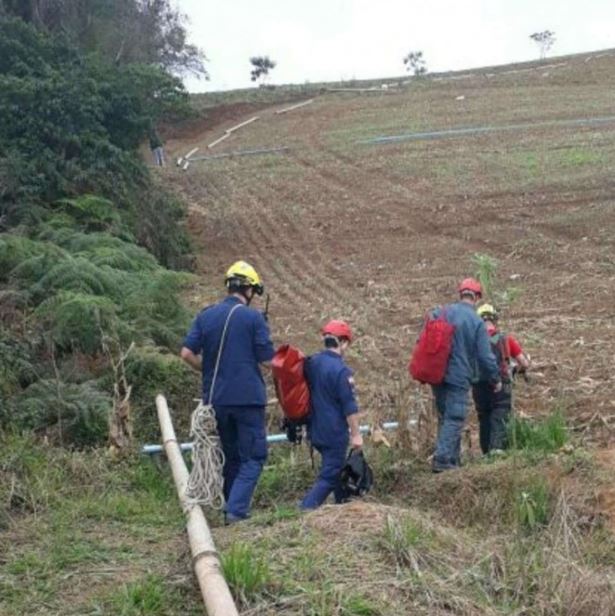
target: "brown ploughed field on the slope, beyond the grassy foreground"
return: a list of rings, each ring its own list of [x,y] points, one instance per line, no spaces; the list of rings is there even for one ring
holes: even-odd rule
[[[216,298],[230,262],[253,262],[272,296],[276,341],[311,351],[325,319],[352,323],[363,406],[387,416],[392,392],[408,386],[424,311],[453,298],[474,253],[488,254],[499,261],[500,289],[521,291],[505,327],[539,366],[534,385],[519,387],[519,408],[560,402],[603,426],[615,414],[614,85],[614,55],[576,56],[328,93],[286,115],[272,107],[209,151],[253,113],[169,143],[178,156],[196,145],[197,155],[291,148],[167,170],[191,205],[207,281],[195,307]],[[360,143],[472,127],[505,129]]]

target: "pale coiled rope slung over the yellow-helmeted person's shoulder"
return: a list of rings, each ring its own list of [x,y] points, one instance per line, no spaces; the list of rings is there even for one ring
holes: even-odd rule
[[[192,450],[192,470],[186,485],[185,502],[187,506],[204,505],[214,509],[224,507],[224,479],[222,475],[224,453],[218,436],[212,402],[229,321],[233,312],[242,305],[233,306],[226,317],[209,390],[209,404],[200,402],[192,413],[190,436],[193,439],[194,446]]]

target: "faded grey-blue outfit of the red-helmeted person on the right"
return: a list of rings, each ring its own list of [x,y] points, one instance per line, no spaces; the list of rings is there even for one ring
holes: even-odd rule
[[[438,409],[438,440],[433,458],[435,471],[457,468],[461,462],[461,432],[468,410],[468,392],[480,370],[492,385],[500,380],[483,320],[467,302],[456,302],[434,311],[445,311],[455,326],[453,346],[444,382],[433,386]]]

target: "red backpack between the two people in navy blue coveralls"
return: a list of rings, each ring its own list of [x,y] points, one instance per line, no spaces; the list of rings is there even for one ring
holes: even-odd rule
[[[283,344],[271,360],[273,382],[284,415],[294,422],[310,413],[310,389],[305,374],[305,355],[290,344]]]

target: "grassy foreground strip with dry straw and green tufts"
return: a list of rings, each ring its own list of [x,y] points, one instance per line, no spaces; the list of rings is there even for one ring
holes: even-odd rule
[[[440,476],[370,445],[375,493],[308,515],[295,506],[308,452],[273,450],[249,522],[208,514],[242,614],[613,613],[615,539],[596,500],[608,474],[556,448],[558,421]],[[166,464],[14,435],[0,451],[0,613],[202,613]]]

